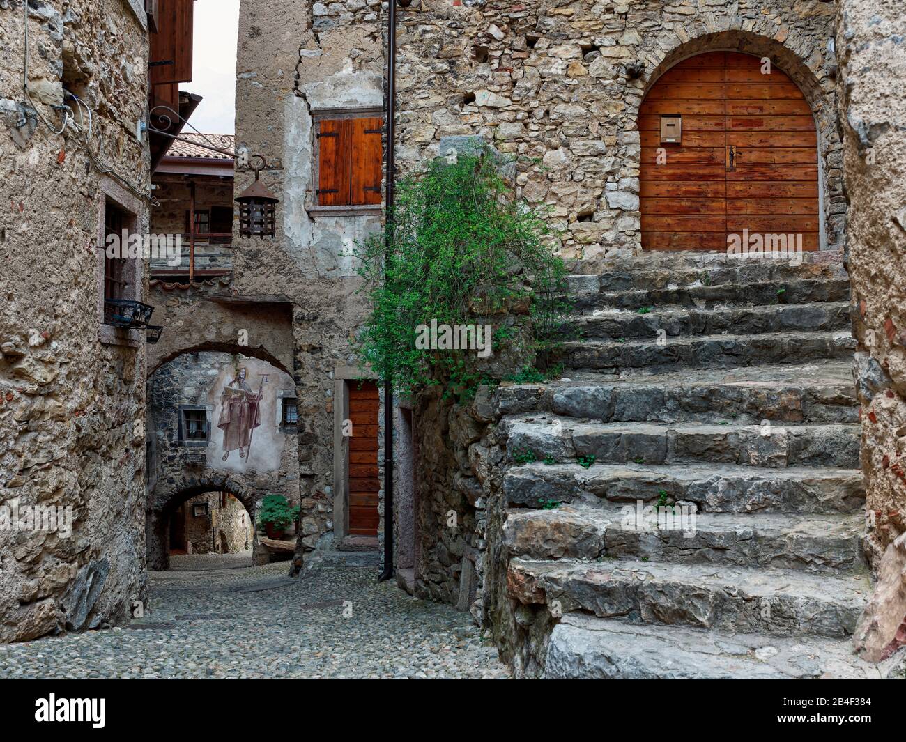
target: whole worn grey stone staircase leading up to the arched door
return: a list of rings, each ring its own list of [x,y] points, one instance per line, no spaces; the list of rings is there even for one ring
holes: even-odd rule
[[[525,674],[883,675],[850,649],[872,592],[855,343],[820,257],[571,277],[564,378],[498,397],[506,592],[516,623],[553,617]]]

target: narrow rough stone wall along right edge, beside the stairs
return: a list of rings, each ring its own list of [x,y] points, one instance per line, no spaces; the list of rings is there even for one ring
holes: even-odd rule
[[[869,554],[906,532],[906,22],[892,0],[840,5],[848,269]]]

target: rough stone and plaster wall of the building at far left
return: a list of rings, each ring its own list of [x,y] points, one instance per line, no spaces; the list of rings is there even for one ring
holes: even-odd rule
[[[72,508],[72,534],[0,528],[0,641],[122,622],[145,591],[144,343],[99,340],[97,246],[108,199],[147,231],[147,28],[124,0],[28,5],[34,108],[0,1],[0,506]]]

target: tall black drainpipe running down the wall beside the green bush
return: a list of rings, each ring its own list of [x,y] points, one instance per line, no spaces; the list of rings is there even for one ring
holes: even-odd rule
[[[396,175],[396,2],[389,0],[387,18],[387,224],[384,235],[390,255],[390,232],[393,228],[393,178]],[[393,576],[393,383],[384,381],[384,571],[378,582]]]

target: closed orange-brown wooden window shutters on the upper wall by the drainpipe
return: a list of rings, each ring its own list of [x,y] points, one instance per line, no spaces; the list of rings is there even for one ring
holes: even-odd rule
[[[381,203],[381,118],[318,122],[318,206]]]

